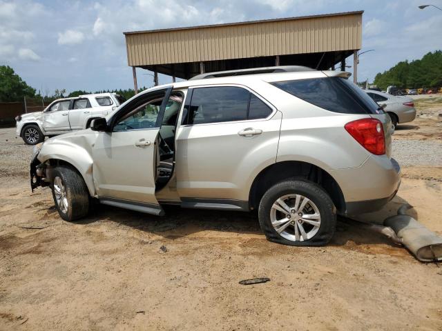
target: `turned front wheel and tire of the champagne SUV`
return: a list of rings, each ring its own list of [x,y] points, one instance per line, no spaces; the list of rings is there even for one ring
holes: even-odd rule
[[[62,219],[75,221],[88,214],[88,188],[73,168],[64,165],[55,168],[51,188],[55,208]]]

